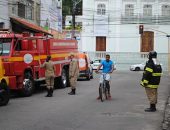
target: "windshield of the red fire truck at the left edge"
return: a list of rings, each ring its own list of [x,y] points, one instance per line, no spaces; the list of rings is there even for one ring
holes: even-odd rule
[[[10,53],[11,38],[0,38],[0,55],[6,56]]]

